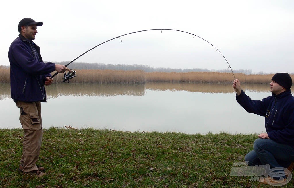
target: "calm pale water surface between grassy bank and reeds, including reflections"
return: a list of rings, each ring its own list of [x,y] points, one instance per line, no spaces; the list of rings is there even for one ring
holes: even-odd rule
[[[242,85],[251,99],[271,93],[269,85]],[[146,83],[47,86],[43,127],[93,127],[138,132],[207,134],[265,132],[264,117],[247,113],[231,84]],[[10,85],[0,84],[0,128],[20,128]]]

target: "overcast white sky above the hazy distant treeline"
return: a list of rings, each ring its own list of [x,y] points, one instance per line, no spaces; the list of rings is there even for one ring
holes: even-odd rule
[[[294,72],[293,0],[5,1],[0,16],[0,65],[9,65],[7,53],[18,36],[18,23],[29,17],[44,23],[34,40],[44,61],[72,61],[111,38],[168,28],[204,38],[232,69]],[[186,33],[145,31],[121,39],[76,62],[228,69],[213,46]]]

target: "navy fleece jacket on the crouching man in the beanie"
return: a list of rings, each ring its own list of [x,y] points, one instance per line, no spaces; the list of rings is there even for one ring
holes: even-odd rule
[[[265,116],[268,137],[294,148],[294,97],[291,90],[263,100],[251,100],[242,90],[237,102],[249,113]]]

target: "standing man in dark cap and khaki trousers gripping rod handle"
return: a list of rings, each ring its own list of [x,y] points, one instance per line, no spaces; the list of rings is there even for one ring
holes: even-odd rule
[[[30,18],[21,19],[19,36],[8,51],[10,62],[11,98],[20,108],[19,120],[24,130],[23,154],[19,170],[30,176],[42,177],[44,167],[37,167],[42,142],[41,102],[46,102],[44,85],[51,85],[51,72],[64,73],[68,68],[55,63],[44,63],[40,48],[33,40],[37,26],[43,22]],[[50,79],[51,78],[51,79]]]

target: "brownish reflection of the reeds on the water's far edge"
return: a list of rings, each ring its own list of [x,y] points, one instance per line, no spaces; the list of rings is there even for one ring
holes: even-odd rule
[[[268,84],[242,84],[244,91],[268,92]],[[143,96],[146,89],[158,91],[189,91],[201,93],[234,93],[231,84],[225,83],[155,83],[145,84],[101,84],[101,83],[57,83],[46,86],[48,98],[58,96]],[[10,98],[10,84],[0,84],[0,100]]]

